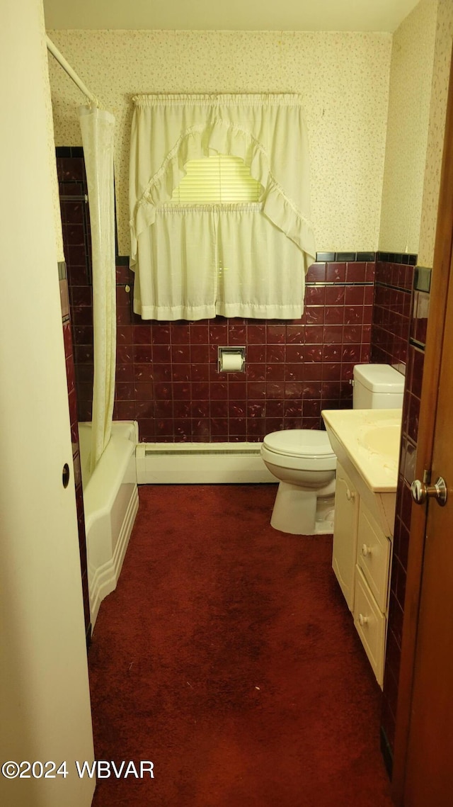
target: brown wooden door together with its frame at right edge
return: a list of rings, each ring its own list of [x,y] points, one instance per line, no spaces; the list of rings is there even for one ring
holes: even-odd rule
[[[417,477],[447,504],[413,506],[393,765],[399,807],[453,803],[453,64],[418,430]]]

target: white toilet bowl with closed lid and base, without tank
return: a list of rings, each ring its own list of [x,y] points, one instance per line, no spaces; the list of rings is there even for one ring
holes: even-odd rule
[[[286,429],[264,437],[261,457],[280,484],[271,525],[282,533],[333,531],[337,458],[326,432]]]

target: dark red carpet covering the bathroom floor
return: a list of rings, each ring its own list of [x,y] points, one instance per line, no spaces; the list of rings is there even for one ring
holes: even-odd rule
[[[89,671],[94,807],[391,807],[380,689],[331,537],[269,525],[274,485],[141,487]]]

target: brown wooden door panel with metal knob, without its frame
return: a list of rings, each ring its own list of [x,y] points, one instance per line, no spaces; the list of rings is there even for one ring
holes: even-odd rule
[[[427,505],[405,807],[453,803],[453,283],[449,284],[431,480],[447,504]]]

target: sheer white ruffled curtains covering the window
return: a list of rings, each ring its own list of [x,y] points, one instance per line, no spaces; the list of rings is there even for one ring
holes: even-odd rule
[[[315,258],[309,153],[294,94],[138,95],[131,131],[131,268],[143,319],[294,319]],[[240,157],[259,203],[168,204],[189,160]]]

